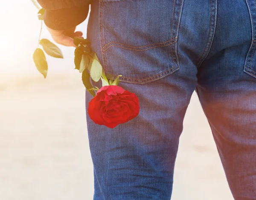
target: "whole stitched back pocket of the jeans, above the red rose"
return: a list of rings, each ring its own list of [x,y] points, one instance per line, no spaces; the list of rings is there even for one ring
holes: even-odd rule
[[[99,38],[105,72],[145,84],[179,69],[177,38],[183,0],[100,0]]]

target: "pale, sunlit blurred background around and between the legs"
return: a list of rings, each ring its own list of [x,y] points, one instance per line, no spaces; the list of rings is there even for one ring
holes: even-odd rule
[[[0,200],[92,200],[85,88],[74,48],[33,62],[41,23],[31,0],[0,1]],[[87,18],[88,20],[88,18]],[[77,30],[86,38],[87,20]],[[41,38],[52,41],[45,26]],[[233,200],[194,93],[184,120],[172,200]]]

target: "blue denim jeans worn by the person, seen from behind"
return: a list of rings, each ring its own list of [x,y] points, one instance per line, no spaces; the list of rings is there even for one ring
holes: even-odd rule
[[[139,115],[113,129],[87,115],[94,200],[170,200],[195,90],[233,197],[256,200],[255,0],[93,0],[87,38],[140,99]]]

